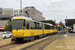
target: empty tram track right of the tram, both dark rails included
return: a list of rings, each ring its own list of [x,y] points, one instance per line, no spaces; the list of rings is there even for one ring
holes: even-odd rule
[[[48,45],[49,43],[52,43],[54,40],[58,39],[59,37],[49,37],[47,39],[44,39],[42,41],[39,41],[35,44],[32,44],[30,46],[27,46],[25,48],[22,48],[21,50],[43,50],[43,48]]]

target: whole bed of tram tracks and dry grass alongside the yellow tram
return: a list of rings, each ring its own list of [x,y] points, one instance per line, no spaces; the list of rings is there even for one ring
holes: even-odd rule
[[[0,50],[16,50],[16,48],[18,48],[19,46],[23,46],[23,45],[24,45],[23,47],[21,47],[21,48],[19,48],[17,50],[43,50],[44,47],[46,47],[48,44],[52,43],[54,40],[58,39],[59,37],[60,36],[53,36],[52,35],[52,36],[48,36],[48,37],[45,37],[45,38],[37,39],[37,40],[31,41],[31,42],[10,43],[10,44],[7,44],[7,45],[0,46]],[[39,45],[41,43],[44,44],[42,47]],[[27,45],[27,46],[25,46],[25,45]],[[35,49],[37,46],[40,46],[40,48]],[[33,49],[31,49],[31,48],[33,48]]]

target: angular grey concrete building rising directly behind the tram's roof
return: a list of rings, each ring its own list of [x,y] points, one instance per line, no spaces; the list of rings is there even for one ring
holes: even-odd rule
[[[45,20],[45,18],[42,17],[42,13],[40,11],[38,11],[36,8],[34,8],[34,7],[23,8],[23,15],[24,16],[28,16],[26,14],[26,11],[27,11],[29,17],[32,18],[33,20],[37,20],[37,21]]]

